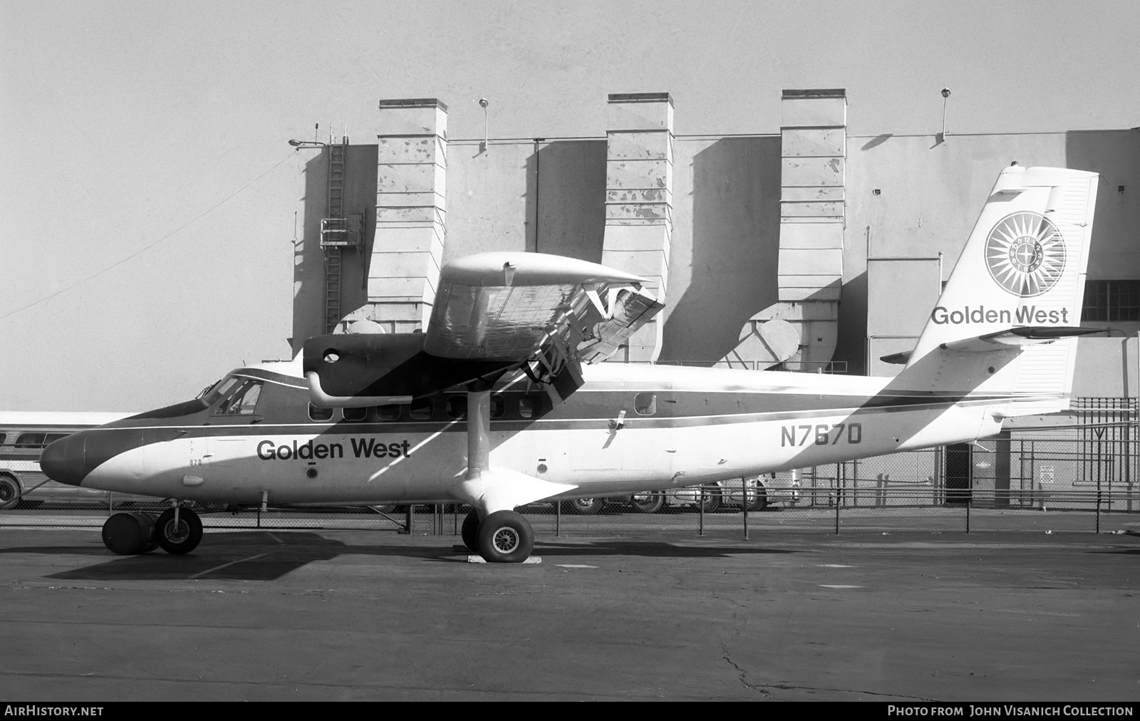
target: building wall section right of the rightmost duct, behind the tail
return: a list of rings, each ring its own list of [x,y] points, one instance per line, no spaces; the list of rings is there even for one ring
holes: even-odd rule
[[[836,351],[837,359],[847,360],[848,372],[897,372],[898,366],[868,368],[864,358],[881,355],[879,350],[895,353],[907,348],[877,345],[868,337],[877,335],[881,327],[917,335],[925,317],[910,318],[909,331],[899,327],[897,299],[930,294],[926,274],[906,273],[890,274],[891,287],[869,293],[869,249],[872,258],[931,258],[942,252],[945,281],[997,172],[1013,161],[1026,167],[1056,165],[1101,173],[1089,278],[1140,278],[1140,245],[1134,230],[1140,222],[1140,202],[1135,200],[1135,188],[1140,187],[1138,131],[952,135],[943,143],[935,136],[852,137],[844,300]],[[1119,186],[1125,189],[1119,192]],[[1132,195],[1129,186],[1133,188]],[[869,298],[877,301],[869,303]],[[1140,330],[1140,323],[1088,325],[1112,326],[1121,334]],[[1089,350],[1078,356],[1078,381],[1086,372],[1092,373],[1093,367],[1104,365],[1092,359],[1096,345],[1081,342]]]

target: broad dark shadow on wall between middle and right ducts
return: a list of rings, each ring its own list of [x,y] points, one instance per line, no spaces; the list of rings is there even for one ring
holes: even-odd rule
[[[667,294],[661,360],[711,365],[779,300],[780,138],[724,138],[697,153],[692,202],[692,277],[683,295]],[[670,265],[687,260],[678,246]]]

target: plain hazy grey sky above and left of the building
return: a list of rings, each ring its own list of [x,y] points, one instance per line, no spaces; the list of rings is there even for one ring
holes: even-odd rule
[[[0,0],[0,410],[141,411],[287,355],[286,140],[375,141],[378,98],[441,98],[451,138],[480,97],[491,137],[601,137],[636,91],[678,135],[776,132],[783,88],[846,88],[852,135],[938,131],[944,86],[952,132],[1140,125],[1132,0],[562,5]]]

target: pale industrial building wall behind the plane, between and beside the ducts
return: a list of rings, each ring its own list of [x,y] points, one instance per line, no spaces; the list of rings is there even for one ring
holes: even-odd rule
[[[978,217],[996,173],[1009,162],[1100,172],[1092,280],[1140,278],[1140,132],[853,136],[848,141],[844,289],[836,359],[868,372],[869,335],[898,327],[898,298],[931,295],[929,273],[883,268],[889,289],[869,302],[872,258],[935,258],[942,278]],[[741,327],[777,300],[779,136],[678,136],[674,147],[673,236],[660,359],[711,364],[736,345]],[[327,153],[306,165],[303,237],[294,272],[294,348],[321,332],[324,265],[319,225]],[[605,224],[604,138],[451,140],[447,159],[445,261],[489,250],[527,250],[600,261]],[[345,313],[366,300],[361,260],[375,219],[376,146],[350,146],[348,212],[365,212],[365,248],[344,253]],[[1121,189],[1123,188],[1123,189]],[[921,287],[918,287],[921,285]],[[910,314],[913,316],[914,314]],[[918,316],[914,316],[918,317]],[[906,321],[918,334],[921,318]],[[905,323],[904,323],[905,325]],[[1113,324],[1135,333],[1140,323]],[[896,341],[895,345],[906,345]],[[881,345],[881,343],[880,343]],[[886,346],[883,346],[886,348]],[[1101,367],[1093,346],[1077,368]],[[889,351],[905,348],[891,346]],[[890,370],[874,368],[876,372]],[[1080,382],[1080,378],[1078,378]]]

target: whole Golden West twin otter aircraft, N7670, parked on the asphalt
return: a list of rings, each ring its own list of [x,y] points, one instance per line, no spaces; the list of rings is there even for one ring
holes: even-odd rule
[[[440,272],[423,333],[311,338],[202,397],[57,440],[51,478],[170,499],[116,552],[202,538],[187,501],[462,502],[463,541],[520,562],[514,509],[969,441],[1067,406],[1097,175],[1005,168],[895,378],[597,363],[661,303],[642,280],[524,252]]]

